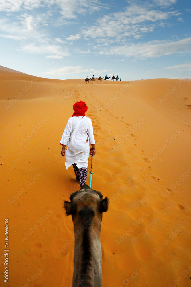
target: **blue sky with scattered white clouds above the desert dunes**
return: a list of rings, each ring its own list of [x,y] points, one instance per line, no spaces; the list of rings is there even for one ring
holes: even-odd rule
[[[1,0],[1,65],[52,79],[188,77],[190,3]]]

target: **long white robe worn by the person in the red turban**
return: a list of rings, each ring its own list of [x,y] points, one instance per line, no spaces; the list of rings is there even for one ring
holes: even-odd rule
[[[74,163],[77,164],[78,168],[88,167],[89,141],[91,144],[95,144],[91,119],[86,116],[71,117],[68,120],[60,141],[60,144],[68,144],[65,154],[66,169]]]

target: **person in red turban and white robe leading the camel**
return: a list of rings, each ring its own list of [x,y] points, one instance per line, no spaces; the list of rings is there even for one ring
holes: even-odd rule
[[[95,155],[95,139],[93,135],[92,121],[85,116],[88,107],[85,102],[77,102],[73,106],[74,113],[68,120],[60,144],[62,145],[62,156],[66,155],[66,169],[73,165],[76,180],[80,181],[80,187],[86,184],[87,167],[90,155]],[[65,153],[65,148],[68,148]]]

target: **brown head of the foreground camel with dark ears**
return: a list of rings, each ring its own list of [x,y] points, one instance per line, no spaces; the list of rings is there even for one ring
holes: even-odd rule
[[[88,185],[84,185],[80,190],[70,195],[70,202],[64,202],[66,215],[72,215],[72,221],[75,226],[81,224],[89,225],[93,223],[96,227],[100,226],[103,212],[108,209],[108,198],[104,199],[101,192],[90,189]]]

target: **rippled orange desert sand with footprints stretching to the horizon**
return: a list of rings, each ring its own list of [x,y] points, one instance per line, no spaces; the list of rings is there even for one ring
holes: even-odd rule
[[[9,284],[2,275],[0,285],[72,286],[74,233],[63,201],[79,186],[59,142],[83,100],[96,140],[92,188],[110,199],[103,287],[190,286],[191,82],[84,84],[3,70],[0,80],[2,274],[5,218],[10,248]]]

